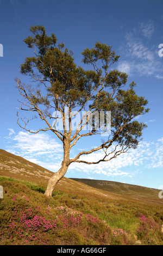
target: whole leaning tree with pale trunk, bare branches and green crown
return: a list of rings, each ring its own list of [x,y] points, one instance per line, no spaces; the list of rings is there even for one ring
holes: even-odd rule
[[[45,27],[31,26],[30,32],[32,35],[24,42],[33,49],[34,54],[21,64],[21,74],[31,77],[33,86],[23,84],[20,78],[16,78],[17,88],[23,98],[20,109],[36,113],[35,117],[43,120],[46,127],[40,127],[37,131],[30,130],[29,117],[21,118],[22,125],[18,113],[17,123],[31,133],[52,131],[62,142],[64,156],[61,167],[49,179],[45,192],[47,196],[52,196],[54,187],[66,174],[71,163],[97,164],[110,161],[130,148],[135,149],[142,130],[147,127],[135,117],[149,111],[145,108],[148,101],[136,95],[134,82],[126,90],[123,88],[127,83],[126,73],[110,70],[110,66],[120,57],[112,51],[111,46],[96,42],[94,48],[86,48],[82,53],[82,61],[91,69],[84,70],[74,63],[73,53],[68,51],[64,43],[57,44],[54,34],[46,34]],[[74,129],[73,120],[80,113],[84,115],[78,123],[76,119]],[[96,117],[92,117],[95,113]],[[99,127],[100,113],[104,113],[104,123]],[[111,113],[109,133],[106,133],[107,113]],[[57,127],[60,120],[61,129]],[[85,129],[88,124],[89,128]],[[99,135],[105,135],[99,145],[88,151],[80,151],[73,159],[70,158],[70,150],[83,137]],[[81,159],[99,150],[103,151],[101,159]]]

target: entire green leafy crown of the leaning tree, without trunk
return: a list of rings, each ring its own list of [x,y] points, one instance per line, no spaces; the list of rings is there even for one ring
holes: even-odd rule
[[[145,108],[148,101],[136,95],[134,82],[129,84],[129,89],[122,89],[127,83],[126,73],[109,70],[120,57],[112,51],[112,46],[96,42],[94,48],[86,48],[82,61],[92,69],[84,70],[74,63],[72,51],[63,42],[57,44],[54,34],[46,34],[45,27],[31,26],[30,32],[32,35],[24,42],[34,50],[34,56],[25,59],[21,73],[37,81],[40,89],[26,90],[19,82],[19,89],[25,92],[24,99],[32,105],[28,110],[38,112],[43,120],[52,116],[47,110],[43,116],[38,105],[59,111],[67,106],[70,112],[79,107],[82,111],[86,105],[90,111],[111,111],[112,143],[136,148],[147,125],[134,118],[149,111]],[[91,135],[94,133],[95,129]]]

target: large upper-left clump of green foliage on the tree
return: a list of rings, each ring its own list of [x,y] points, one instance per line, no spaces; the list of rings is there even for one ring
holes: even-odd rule
[[[30,31],[33,35],[28,36],[24,42],[34,49],[35,56],[26,58],[21,65],[21,73],[42,82],[50,82],[51,85],[47,86],[48,99],[53,100],[59,95],[62,102],[83,102],[90,91],[91,81],[84,69],[74,63],[72,52],[64,49],[64,43],[56,45],[55,35],[47,36],[43,26],[32,26]],[[39,71],[39,76],[36,75],[36,70]],[[37,94],[31,100],[42,103],[41,98],[41,94]],[[43,103],[49,106],[49,101],[46,100]]]

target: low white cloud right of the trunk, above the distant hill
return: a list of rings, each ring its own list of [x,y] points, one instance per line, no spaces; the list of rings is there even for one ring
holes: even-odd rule
[[[97,161],[102,157],[102,151],[83,156],[86,161]],[[141,142],[137,149],[131,149],[128,153],[121,154],[108,162],[99,164],[72,163],[70,171],[76,169],[78,172],[87,174],[99,174],[106,176],[129,176],[139,175],[146,168],[163,167],[163,138],[158,143]],[[133,170],[134,167],[136,170]],[[128,171],[128,169],[130,169]],[[138,172],[139,170],[139,172]]]

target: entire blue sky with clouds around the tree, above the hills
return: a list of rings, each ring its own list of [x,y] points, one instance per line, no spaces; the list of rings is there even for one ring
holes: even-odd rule
[[[162,93],[163,57],[163,2],[161,0],[0,0],[0,57],[1,134],[0,148],[20,155],[56,172],[62,161],[62,145],[53,133],[33,135],[17,125],[20,95],[15,77],[20,75],[20,64],[32,52],[23,40],[30,34],[31,25],[45,26],[64,42],[77,65],[81,52],[93,47],[96,41],[112,46],[120,59],[114,68],[126,72],[128,84],[137,83],[136,93],[148,99],[151,111],[138,117],[147,123],[143,140],[136,150],[117,159],[98,165],[72,164],[67,178],[112,180],[128,184],[159,188],[163,185]],[[1,53],[1,51],[0,51]],[[37,129],[38,123],[34,124]],[[96,139],[92,141],[96,144]],[[83,140],[76,150],[88,149]],[[76,151],[72,151],[72,155]],[[99,157],[100,153],[89,156]]]

